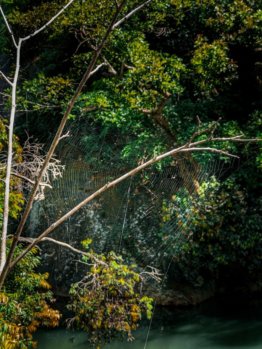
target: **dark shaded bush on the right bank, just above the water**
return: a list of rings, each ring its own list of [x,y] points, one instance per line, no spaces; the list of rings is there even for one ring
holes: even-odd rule
[[[212,192],[205,196],[210,187]],[[220,285],[233,287],[243,280],[259,278],[261,200],[250,200],[234,180],[219,188],[214,179],[202,183],[198,196],[188,195],[181,200],[175,195],[173,200],[163,206],[162,220],[163,225],[166,220],[176,220],[182,227],[181,238],[173,245],[177,253],[172,272],[177,280],[198,285],[197,278],[201,276],[205,282],[215,279]],[[163,236],[164,241],[168,238]]]

